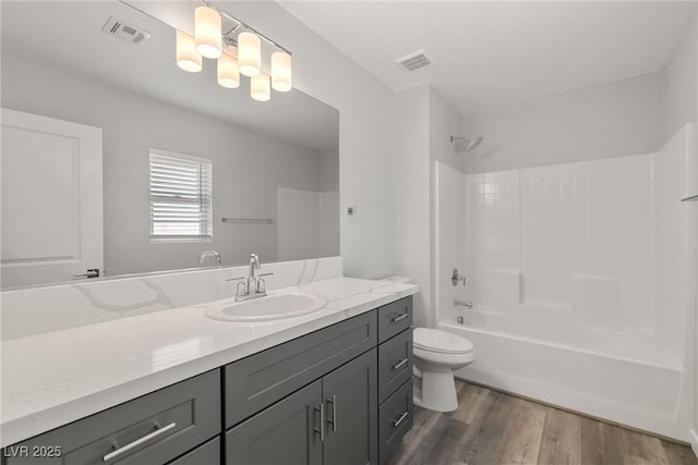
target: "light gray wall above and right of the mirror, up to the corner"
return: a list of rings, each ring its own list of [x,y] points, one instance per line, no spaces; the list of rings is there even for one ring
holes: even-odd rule
[[[274,2],[226,8],[293,52],[293,86],[339,110],[341,256],[345,274],[396,271],[395,94]],[[357,206],[348,216],[347,206]]]

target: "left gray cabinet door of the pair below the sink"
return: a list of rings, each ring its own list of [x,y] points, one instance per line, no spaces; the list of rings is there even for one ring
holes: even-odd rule
[[[226,433],[226,464],[320,464],[320,380]]]

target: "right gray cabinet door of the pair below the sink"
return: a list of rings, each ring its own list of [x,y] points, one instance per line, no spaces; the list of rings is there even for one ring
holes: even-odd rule
[[[376,350],[323,378],[324,464],[377,463]]]

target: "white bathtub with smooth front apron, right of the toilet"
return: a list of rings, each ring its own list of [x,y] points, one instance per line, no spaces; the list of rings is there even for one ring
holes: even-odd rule
[[[441,321],[473,343],[478,358],[455,372],[466,381],[688,441],[693,382],[650,340],[590,329],[565,344]],[[611,339],[611,340],[604,340]],[[635,352],[634,352],[635,351]],[[633,354],[622,356],[621,354]]]

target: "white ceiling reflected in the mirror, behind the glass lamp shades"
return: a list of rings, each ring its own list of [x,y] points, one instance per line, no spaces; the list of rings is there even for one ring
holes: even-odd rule
[[[2,0],[2,53],[36,60],[296,145],[315,150],[337,147],[337,110],[299,90],[273,91],[270,101],[258,102],[250,97],[249,79],[243,78],[238,89],[218,86],[213,60],[205,60],[201,73],[177,68],[174,29],[165,20],[193,23],[192,12],[200,1],[130,3],[152,16],[116,0]],[[153,37],[137,47],[104,34],[100,29],[110,15]]]

